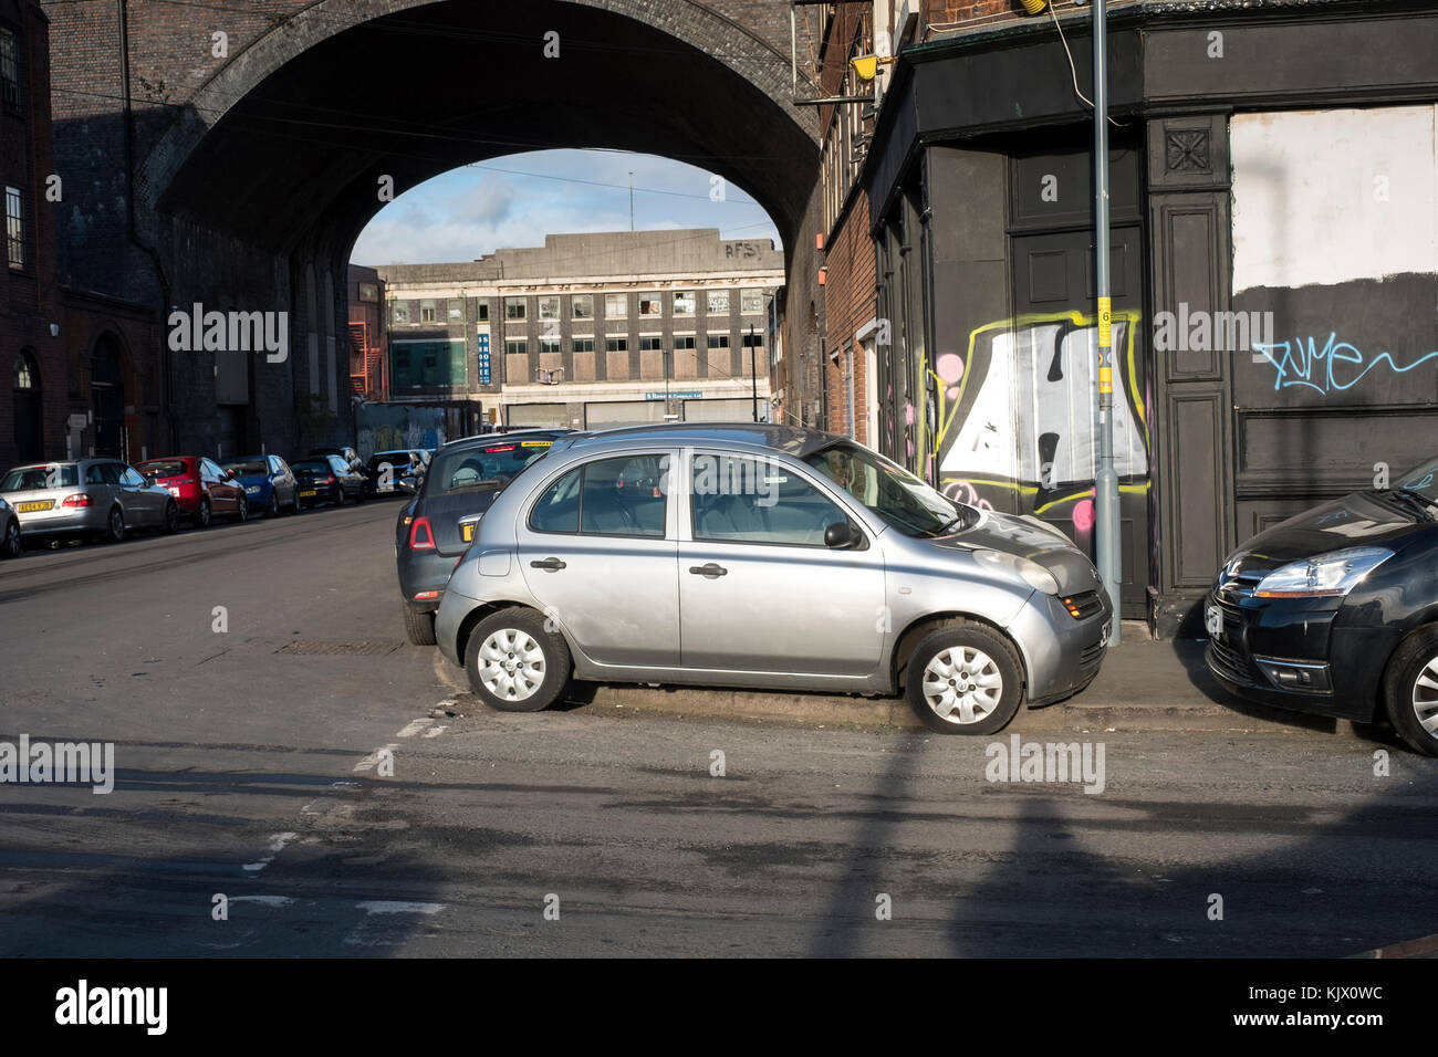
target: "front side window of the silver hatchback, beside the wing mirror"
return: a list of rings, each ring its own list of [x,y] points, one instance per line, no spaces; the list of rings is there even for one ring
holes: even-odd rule
[[[847,516],[788,466],[748,456],[696,453],[695,539],[824,546],[824,529]]]

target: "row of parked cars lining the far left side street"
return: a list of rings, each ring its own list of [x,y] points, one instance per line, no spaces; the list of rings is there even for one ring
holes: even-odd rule
[[[276,518],[418,490],[426,453],[380,454],[370,466],[354,449],[331,447],[293,463],[278,454],[181,454],[135,466],[109,457],[17,466],[0,477],[0,555],[19,555],[27,541],[118,542],[137,531],[175,532],[181,522],[203,529],[217,518]]]

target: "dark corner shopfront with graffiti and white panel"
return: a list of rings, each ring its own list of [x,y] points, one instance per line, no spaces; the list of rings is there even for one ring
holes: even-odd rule
[[[1201,633],[1242,539],[1438,452],[1438,4],[1185,7],[1110,16],[1122,601],[1165,636]],[[1086,89],[1087,24],[1066,22]],[[877,446],[1091,548],[1091,116],[1071,78],[1051,22],[906,52],[864,183],[892,339]],[[1370,184],[1389,197],[1342,201]]]

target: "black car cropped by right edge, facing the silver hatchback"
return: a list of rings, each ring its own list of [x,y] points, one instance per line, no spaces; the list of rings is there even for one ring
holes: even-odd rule
[[[1438,459],[1274,525],[1205,603],[1208,669],[1276,708],[1372,722],[1438,755]]]

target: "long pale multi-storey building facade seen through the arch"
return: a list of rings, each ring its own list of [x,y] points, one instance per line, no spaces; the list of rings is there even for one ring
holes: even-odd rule
[[[470,263],[384,265],[391,400],[496,426],[779,417],[784,255],[716,229],[551,234]]]

